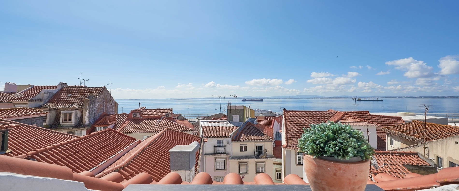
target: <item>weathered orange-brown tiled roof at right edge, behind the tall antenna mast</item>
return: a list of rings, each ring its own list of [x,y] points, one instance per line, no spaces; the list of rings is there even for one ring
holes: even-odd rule
[[[457,126],[440,125],[435,123],[426,123],[425,126],[425,141],[427,142],[459,135],[459,128]],[[386,133],[399,136],[413,142],[424,142],[424,125],[421,121],[414,120],[402,125],[383,127],[381,129]]]

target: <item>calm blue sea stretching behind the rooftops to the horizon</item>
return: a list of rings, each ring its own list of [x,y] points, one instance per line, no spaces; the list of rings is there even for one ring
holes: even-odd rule
[[[459,113],[459,98],[384,98],[384,101],[355,102],[351,98],[290,98],[264,99],[263,102],[242,102],[240,99],[115,99],[118,113],[129,113],[132,109],[173,108],[176,114],[216,114],[226,113],[226,105],[245,105],[252,109],[269,109],[281,113],[288,110],[334,109],[339,111],[370,111],[370,113],[413,112],[424,113],[424,104],[429,113]],[[356,105],[357,104],[357,105]]]

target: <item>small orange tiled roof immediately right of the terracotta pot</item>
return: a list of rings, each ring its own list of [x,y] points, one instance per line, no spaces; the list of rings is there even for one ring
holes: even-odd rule
[[[427,161],[419,157],[417,152],[403,151],[375,151],[373,156],[376,160],[378,169],[371,165],[372,173],[386,173],[397,178],[405,178],[411,173],[404,165],[412,166],[431,166]]]

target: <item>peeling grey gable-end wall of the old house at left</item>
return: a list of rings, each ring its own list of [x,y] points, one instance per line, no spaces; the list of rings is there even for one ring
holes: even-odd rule
[[[84,100],[83,104],[83,124],[91,126],[101,114],[118,113],[118,103],[106,88],[102,90],[99,96],[89,97]]]

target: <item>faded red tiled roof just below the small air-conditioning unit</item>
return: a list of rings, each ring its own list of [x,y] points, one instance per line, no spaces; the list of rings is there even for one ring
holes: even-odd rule
[[[193,131],[193,125],[187,120],[168,120],[166,118],[135,118],[128,119],[118,131],[122,133],[151,133],[164,128],[176,131]]]

